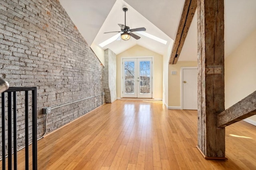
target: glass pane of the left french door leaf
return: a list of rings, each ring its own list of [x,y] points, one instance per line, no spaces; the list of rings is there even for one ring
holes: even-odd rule
[[[134,61],[124,61],[124,94],[134,94]]]

